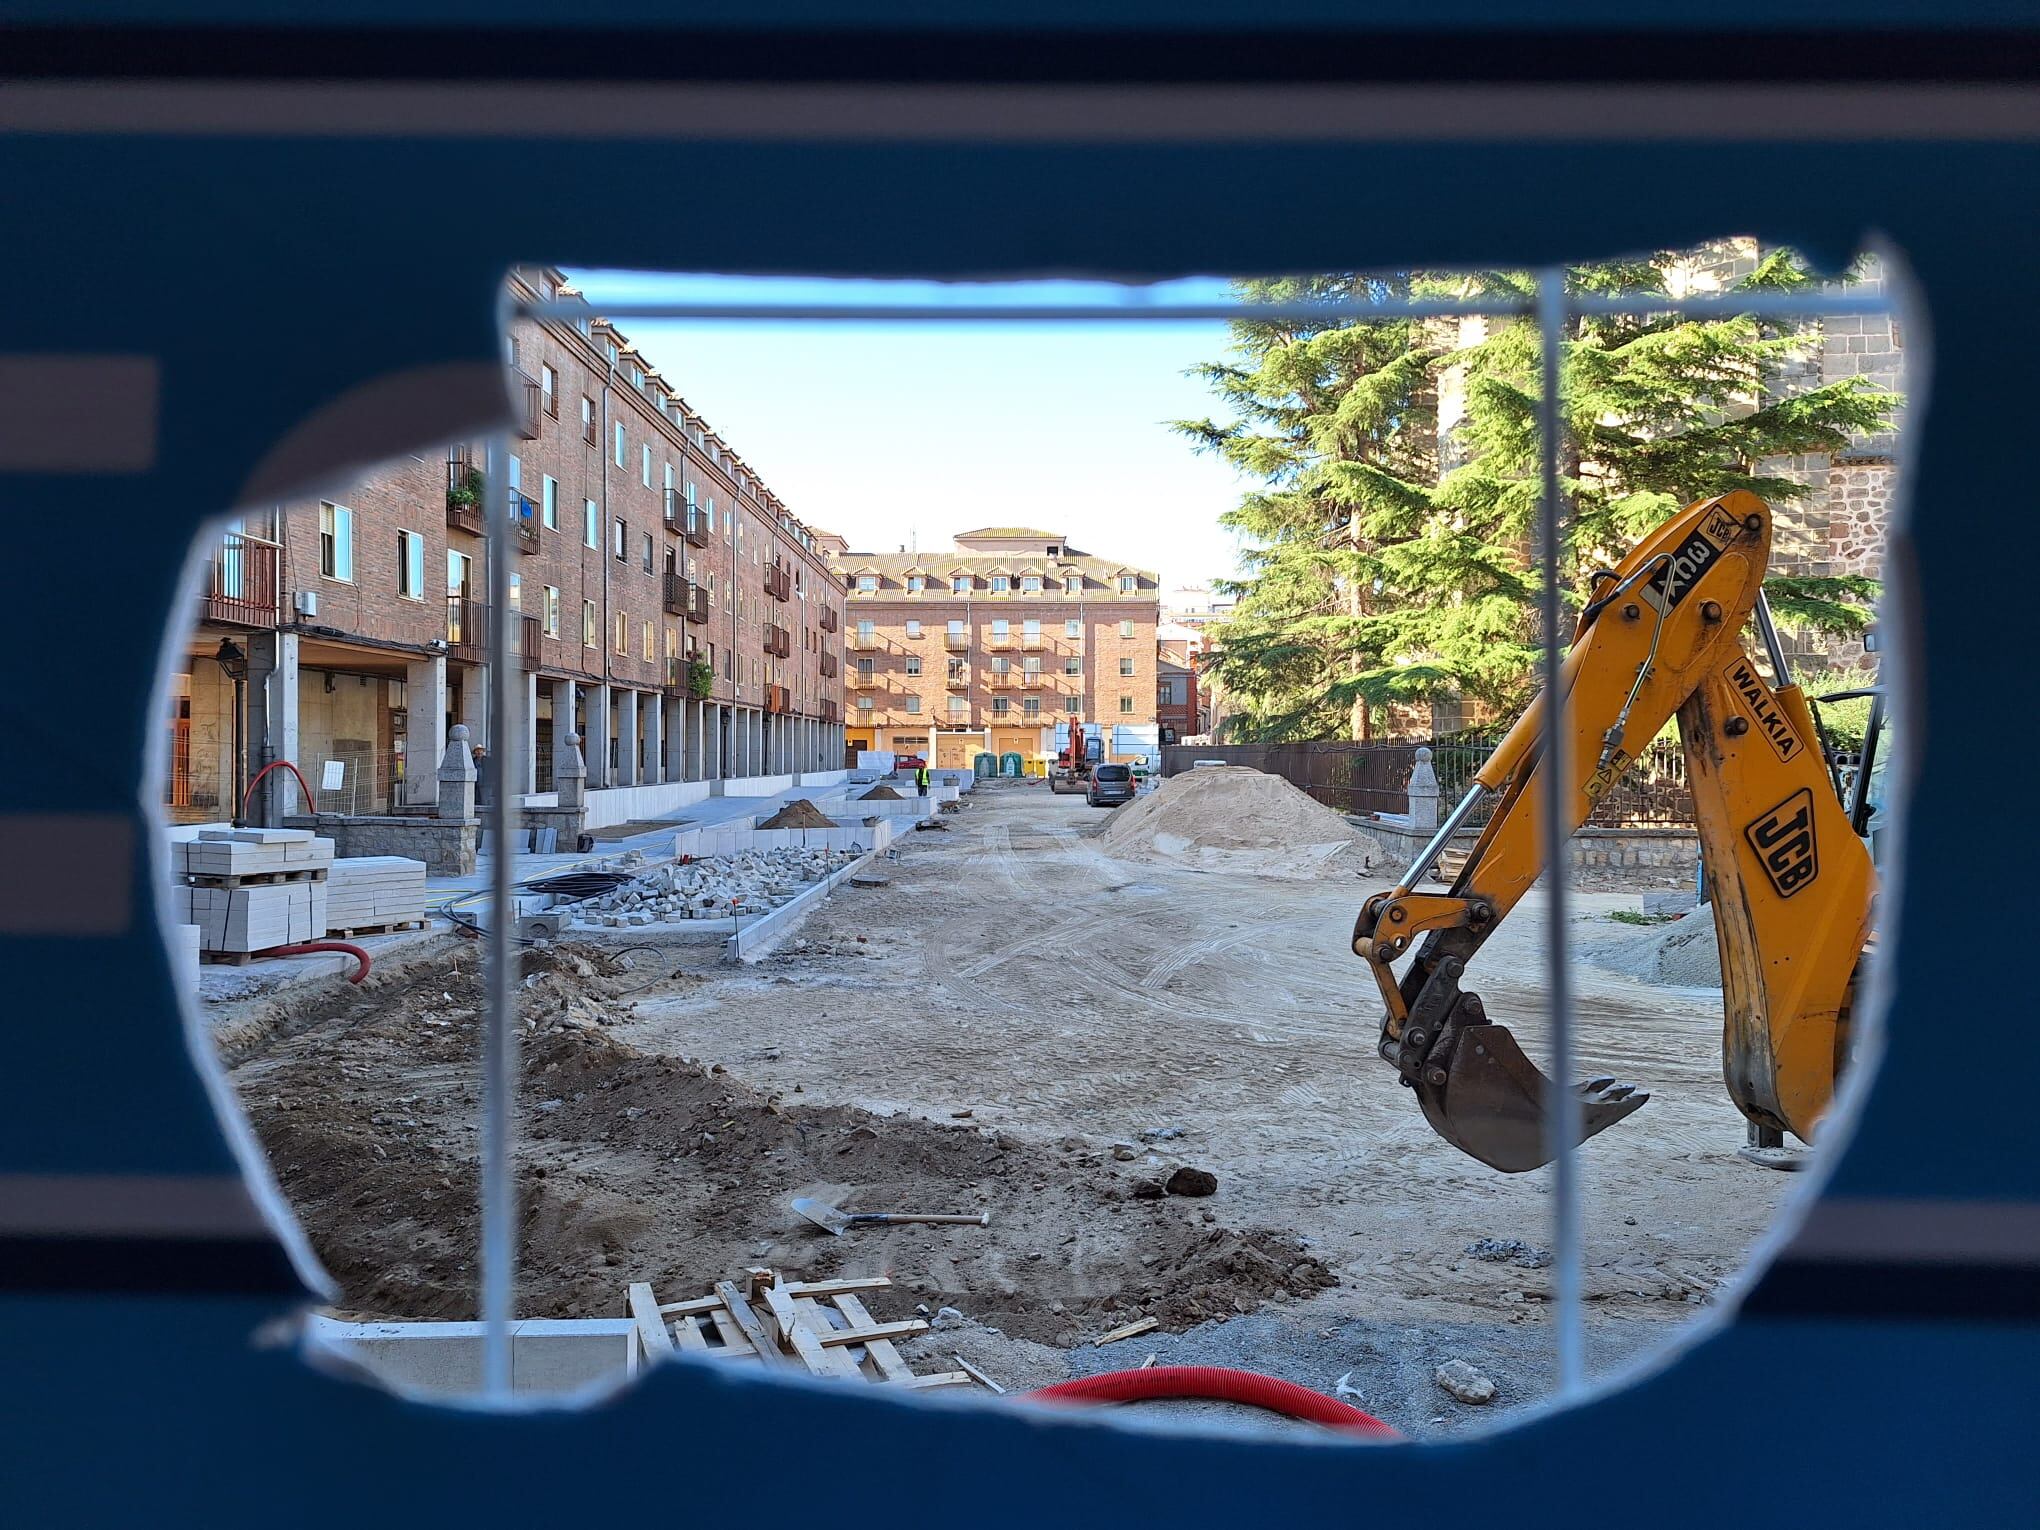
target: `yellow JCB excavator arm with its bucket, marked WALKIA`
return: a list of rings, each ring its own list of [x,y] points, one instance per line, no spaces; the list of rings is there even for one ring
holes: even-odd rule
[[[1724,494],[1689,504],[1614,569],[1593,573],[1561,669],[1563,832],[1587,820],[1677,716],[1722,953],[1722,1075],[1756,1128],[1752,1140],[1791,1132],[1812,1142],[1848,1055],[1871,936],[1871,759],[1844,802],[1765,602],[1771,534],[1765,500]],[[1752,618],[1775,683],[1744,649]],[[1369,898],[1353,928],[1353,951],[1385,1006],[1381,1059],[1446,1142],[1503,1173],[1550,1161],[1544,1100],[1557,1085],[1461,979],[1554,853],[1540,822],[1546,706],[1544,696],[1530,704],[1397,885]],[[1867,749],[1879,714],[1873,706]],[[1493,814],[1450,887],[1420,891],[1489,800]],[[1610,1077],[1571,1087],[1579,1140],[1650,1098]]]

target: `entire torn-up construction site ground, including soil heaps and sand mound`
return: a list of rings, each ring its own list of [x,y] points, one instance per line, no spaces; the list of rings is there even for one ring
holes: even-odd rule
[[[1040,781],[942,785],[947,802],[916,800],[902,777],[902,832],[741,961],[730,920],[671,891],[718,865],[671,853],[687,828],[630,826],[573,859],[622,871],[583,900],[602,908],[541,922],[516,955],[516,1310],[555,1334],[585,1324],[588,1344],[520,1385],[624,1375],[661,1348],[783,1348],[820,1375],[987,1395],[1226,1365],[1408,1434],[1544,1395],[1550,1171],[1463,1157],[1375,1057],[1348,942],[1395,883],[1391,826],[1246,769],[1161,781],[1110,816]],[[804,802],[775,816],[830,822]],[[614,912],[634,904],[661,912]],[[1718,971],[1689,961],[1669,985],[1656,953],[1677,926],[1640,928],[1640,906],[1583,891],[1571,912],[1603,963],[1579,969],[1581,1061],[1652,1089],[1581,1153],[1597,1371],[1716,1302],[1787,1187],[1738,1157]],[[337,1285],[318,1332],[392,1385],[459,1391],[483,942],[459,900],[437,914],[365,940],[359,985],[345,957],[210,965],[200,1008]],[[1540,938],[1532,891],[1479,965],[1532,1051]],[[816,1208],[949,1222],[830,1230]],[[777,1308],[783,1346],[753,1346]],[[435,1334],[461,1342],[400,1342]]]

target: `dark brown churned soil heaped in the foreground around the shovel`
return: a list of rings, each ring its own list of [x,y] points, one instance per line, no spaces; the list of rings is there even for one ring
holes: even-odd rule
[[[477,955],[333,1002],[233,1073],[343,1312],[475,1314]],[[608,1030],[643,981],[624,961],[577,947],[526,955],[526,1314],[612,1316],[632,1279],[696,1291],[773,1265],[802,1279],[889,1273],[894,1289],[873,1302],[887,1318],[955,1306],[1018,1338],[1073,1344],[1140,1316],[1181,1330],[1336,1283],[1295,1234],[1226,1226],[1224,1183],[1212,1200],[1144,1200],[1134,1191],[1153,1165],[1079,1138],[808,1108],[710,1063],[639,1053]],[[991,1226],[830,1238],[794,1214],[794,1195],[985,1210]]]

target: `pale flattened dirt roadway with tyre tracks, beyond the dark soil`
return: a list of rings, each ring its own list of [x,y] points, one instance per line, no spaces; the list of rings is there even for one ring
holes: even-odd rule
[[[969,1110],[1032,1140],[1179,1128],[1155,1153],[1212,1169],[1220,1212],[1310,1238],[1340,1279],[1314,1302],[1332,1312],[1465,1320],[1540,1302],[1546,1273],[1463,1251],[1548,1244],[1548,1171],[1461,1157],[1375,1059],[1346,942],[1385,881],[1114,861],[1102,816],[1042,787],[979,792],[949,832],[908,836],[891,885],[838,896],[749,975],[641,1000],[620,1036],[726,1059],[769,1089],[928,1120]],[[1603,922],[1632,900],[1581,904]],[[1540,940],[1532,898],[1469,977],[1532,1057]],[[1736,1157],[1718,1000],[1583,967],[1579,1014],[1581,1061],[1652,1091],[1583,1153],[1587,1295],[1679,1316],[1742,1263],[1785,1177]]]

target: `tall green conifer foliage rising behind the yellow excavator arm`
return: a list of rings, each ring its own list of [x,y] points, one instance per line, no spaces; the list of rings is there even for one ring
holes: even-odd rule
[[[1581,265],[1573,292],[1656,294],[1681,261]],[[1738,286],[1809,277],[1773,253]],[[1355,275],[1240,284],[1261,300],[1363,292],[1528,296],[1528,273],[1389,282]],[[1805,339],[1752,318],[1577,316],[1561,357],[1567,422],[1569,592],[1679,506],[1728,490],[1807,494],[1767,461],[1840,451],[1889,422],[1893,398],[1858,379],[1791,392],[1781,375]],[[1226,524],[1246,539],[1238,610],[1214,669],[1238,704],[1232,736],[1367,736],[1393,702],[1512,710],[1534,690],[1538,512],[1538,333],[1493,322],[1448,349],[1410,320],[1234,324],[1234,361],[1202,375],[1234,414],[1177,428],[1265,488]],[[1434,386],[1448,373],[1463,414],[1442,443]],[[1455,465],[1440,471],[1440,455]],[[1773,575],[1781,622],[1860,630],[1875,583]]]

